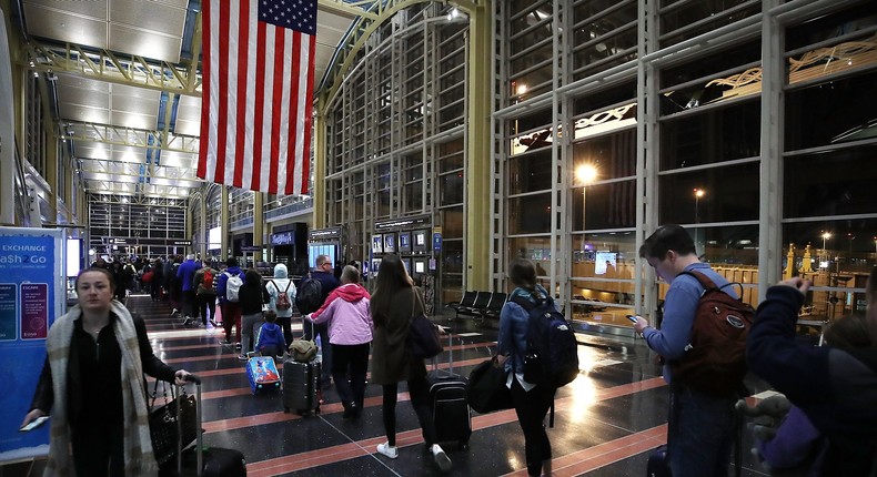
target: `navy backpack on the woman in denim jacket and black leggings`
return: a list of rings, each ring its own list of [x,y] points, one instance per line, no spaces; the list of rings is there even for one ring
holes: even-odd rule
[[[533,303],[515,296],[512,302],[530,313],[524,380],[541,386],[561,387],[578,376],[578,342],[566,318],[551,297]]]

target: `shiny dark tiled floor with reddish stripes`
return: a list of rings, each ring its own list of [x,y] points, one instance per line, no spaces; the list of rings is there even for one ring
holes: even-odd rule
[[[250,393],[236,353],[223,345],[221,329],[183,328],[169,317],[167,304],[147,296],[129,298],[129,308],[145,319],[157,356],[203,379],[204,440],[240,449],[250,476],[430,476],[438,470],[424,451],[404,384],[400,390],[400,457],[375,453],[385,440],[381,388],[370,385],[362,418],[342,419],[334,387],[324,390],[322,413],[284,414],[281,394]],[[496,332],[471,321],[446,323],[451,346],[438,358],[441,372],[467,375],[487,358]],[[300,328],[300,324],[299,324]],[[557,393],[554,428],[548,430],[555,476],[644,476],[649,450],[666,439],[667,386],[654,355],[628,337],[579,335],[581,375]],[[763,389],[756,389],[763,390]],[[524,440],[514,410],[472,415],[468,449],[446,445],[454,476],[525,476]],[[744,433],[743,475],[754,470],[748,433]],[[0,475],[39,475],[40,463]]]

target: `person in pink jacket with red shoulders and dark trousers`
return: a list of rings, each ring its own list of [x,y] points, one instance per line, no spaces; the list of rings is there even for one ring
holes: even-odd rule
[[[371,296],[360,285],[360,272],[347,265],[341,273],[341,286],[329,294],[323,306],[305,319],[329,325],[332,347],[332,378],[335,380],[344,418],[356,418],[365,400],[365,374],[372,343]]]

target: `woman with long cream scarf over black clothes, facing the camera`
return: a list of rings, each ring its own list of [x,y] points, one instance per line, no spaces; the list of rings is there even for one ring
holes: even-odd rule
[[[179,385],[190,375],[152,354],[143,319],[112,300],[108,270],[81,271],[75,290],[79,304],[49,328],[47,358],[21,424],[51,413],[46,475],[71,467],[88,477],[157,475],[143,373]]]

